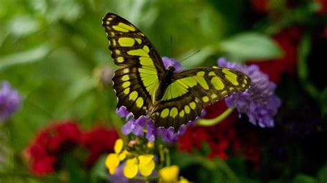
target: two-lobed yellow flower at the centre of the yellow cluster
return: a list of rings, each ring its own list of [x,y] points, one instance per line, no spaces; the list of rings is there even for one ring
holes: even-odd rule
[[[137,172],[147,177],[151,175],[155,169],[154,155],[139,155],[131,159],[126,160],[126,166],[123,168],[123,175],[128,178],[133,178],[137,175]]]

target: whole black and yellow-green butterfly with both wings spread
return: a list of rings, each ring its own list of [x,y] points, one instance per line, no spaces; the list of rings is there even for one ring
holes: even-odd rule
[[[172,126],[176,132],[201,115],[206,105],[250,88],[250,78],[230,68],[166,69],[149,39],[118,15],[109,12],[102,26],[111,56],[120,66],[112,78],[117,108],[125,106],[135,119],[146,115],[156,127]]]

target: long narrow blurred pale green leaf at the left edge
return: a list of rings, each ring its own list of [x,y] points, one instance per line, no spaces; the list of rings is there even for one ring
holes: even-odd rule
[[[25,50],[22,52],[13,53],[4,57],[0,57],[0,71],[11,66],[17,66],[22,64],[31,64],[45,58],[51,48],[46,44],[42,44],[37,48]]]

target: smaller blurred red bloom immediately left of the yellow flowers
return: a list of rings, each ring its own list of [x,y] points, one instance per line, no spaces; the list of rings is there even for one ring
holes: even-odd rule
[[[89,151],[86,165],[90,167],[100,155],[114,152],[114,145],[119,136],[115,129],[99,126],[90,132],[84,133],[82,138],[83,144]]]

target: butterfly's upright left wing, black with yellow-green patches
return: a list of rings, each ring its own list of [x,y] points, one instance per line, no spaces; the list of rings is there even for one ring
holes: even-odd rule
[[[135,118],[146,115],[152,96],[165,72],[157,50],[132,23],[108,13],[102,20],[115,64],[121,66],[112,78],[117,108],[126,106]]]

